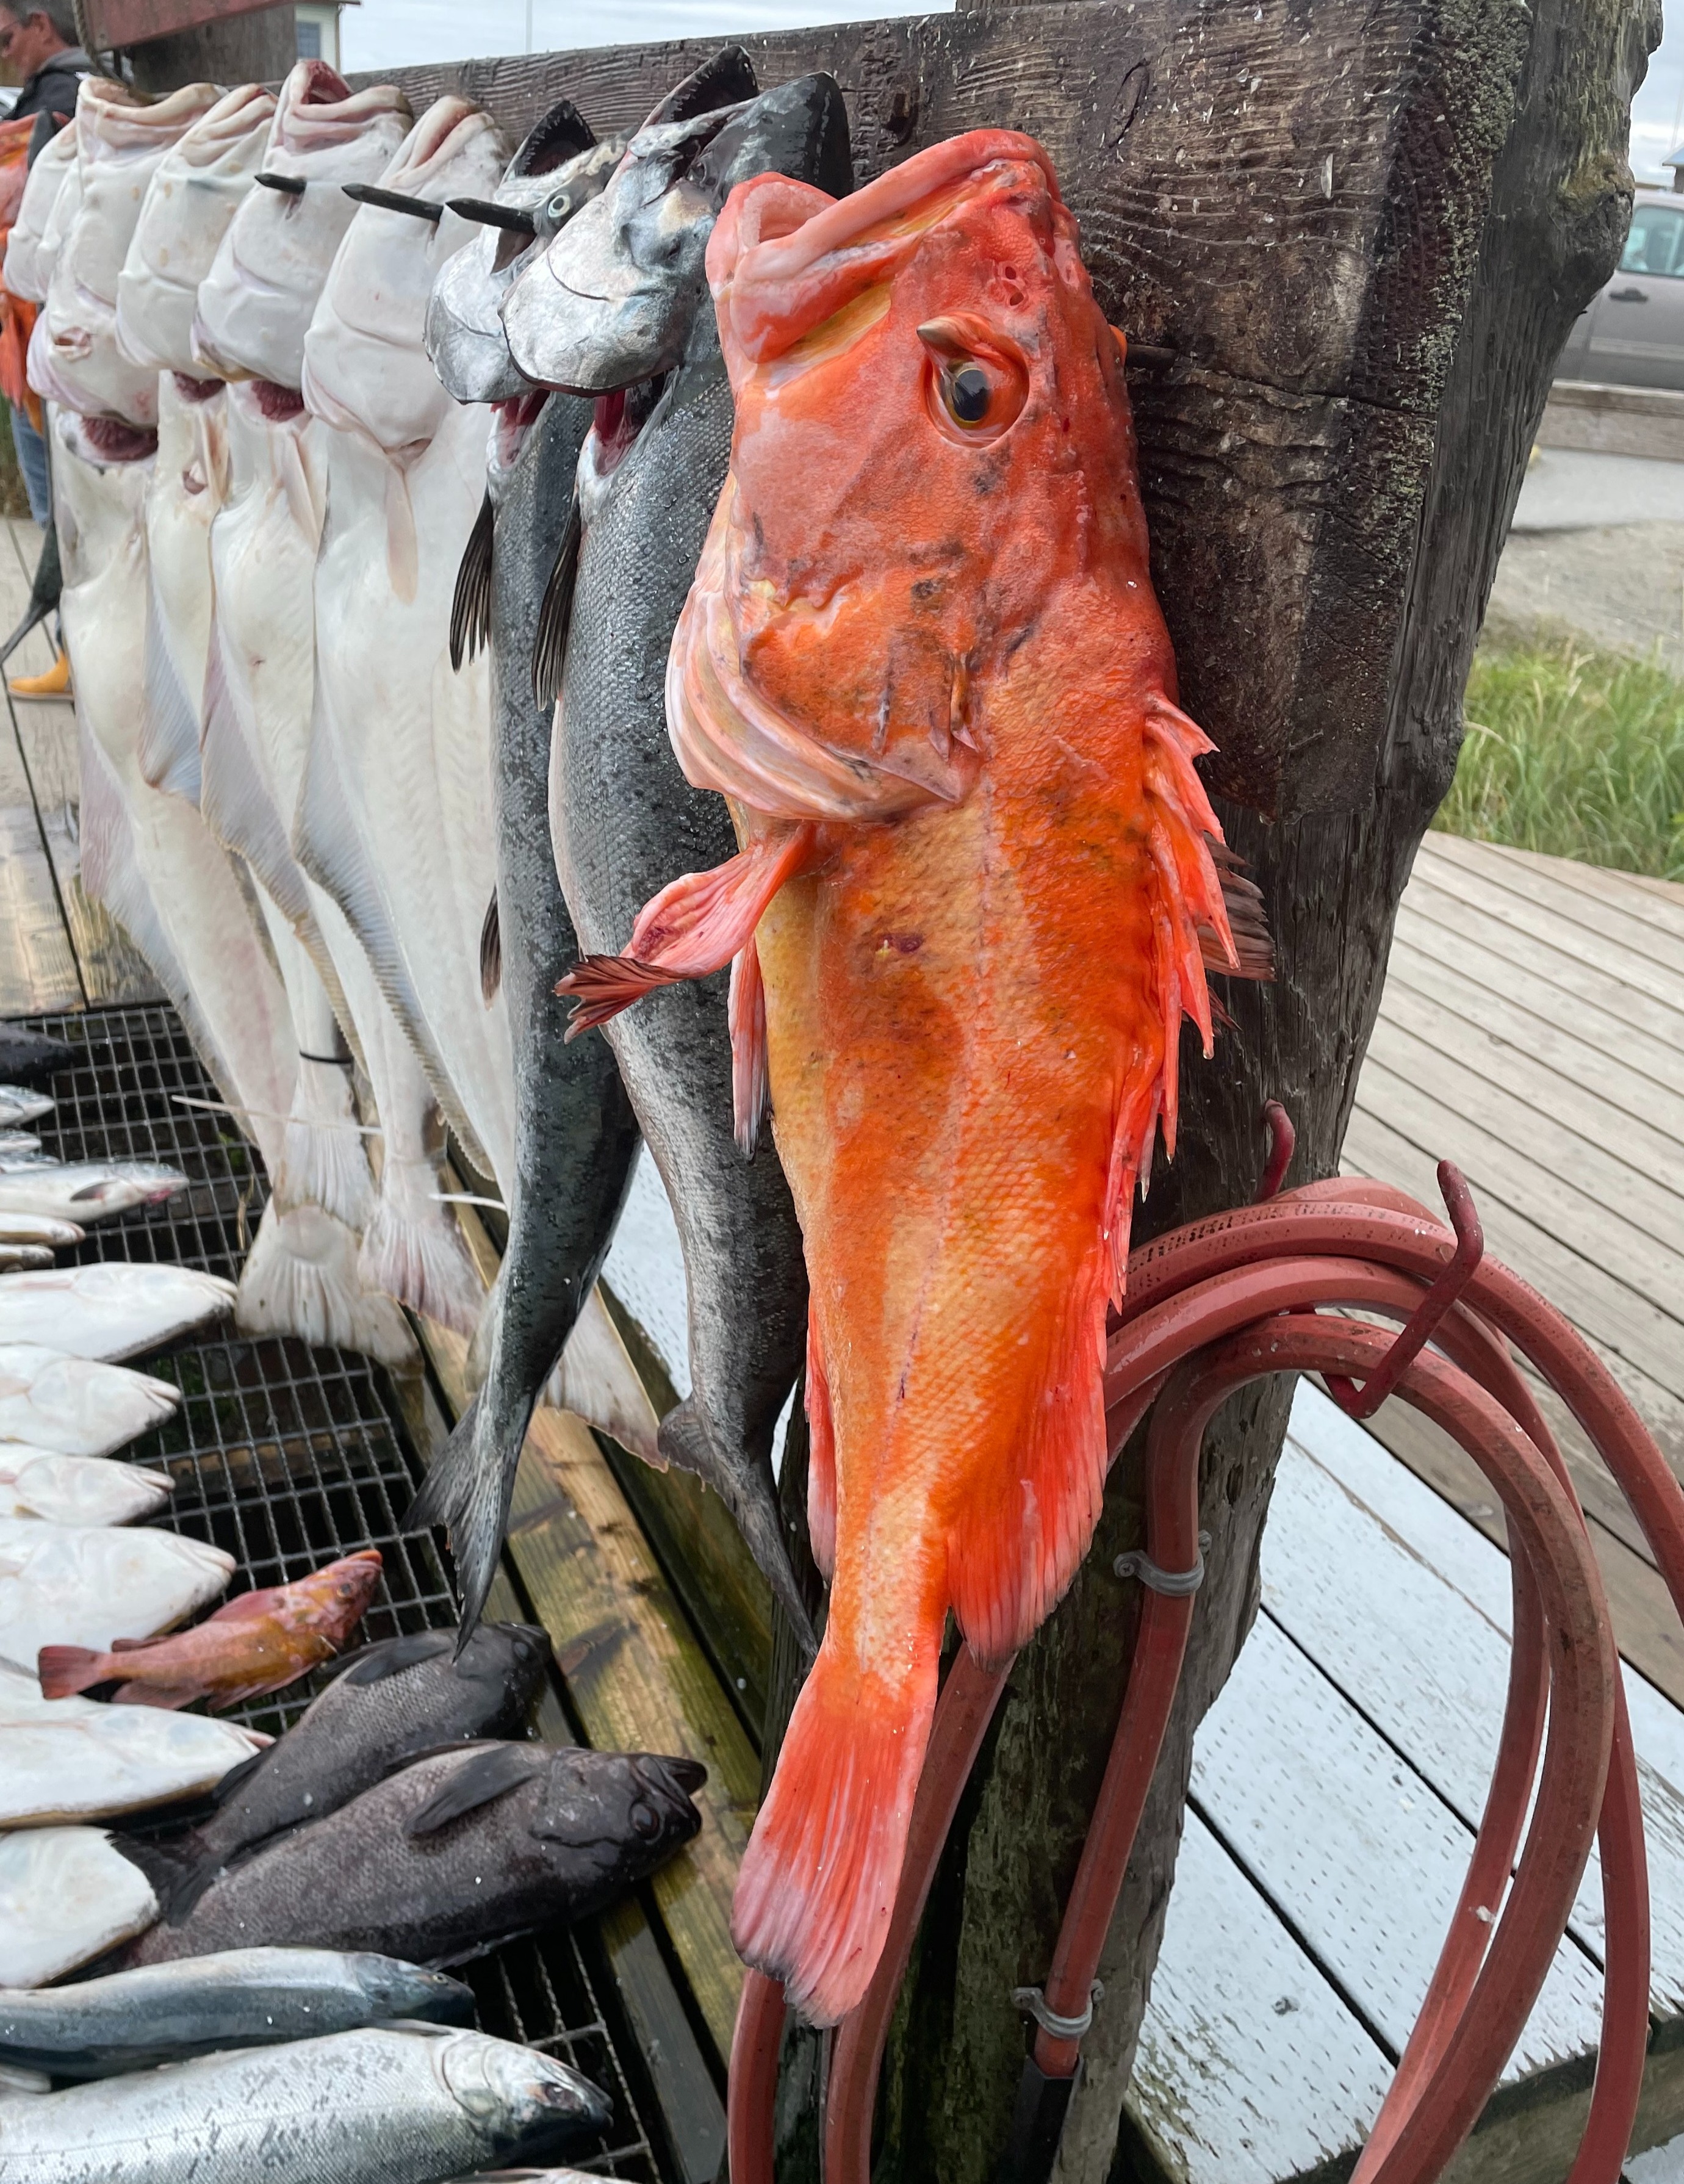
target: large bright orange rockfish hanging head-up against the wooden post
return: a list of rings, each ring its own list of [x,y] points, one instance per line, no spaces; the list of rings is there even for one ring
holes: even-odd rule
[[[743,854],[572,987],[598,1022],[734,961],[745,1142],[775,1107],[832,1592],[736,1942],[823,2025],[882,1948],[948,1610],[1003,1662],[1088,1548],[1182,1016],[1210,1051],[1206,961],[1267,943],[1247,904],[1241,963],[1123,347],[1040,144],[976,131],[841,201],[762,175],[708,277],[736,439],[666,699]]]

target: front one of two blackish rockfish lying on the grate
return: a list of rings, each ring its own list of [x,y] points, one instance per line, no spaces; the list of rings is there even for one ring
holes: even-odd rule
[[[229,1865],[124,1963],[273,1944],[465,1963],[653,1874],[701,1828],[705,1778],[695,1760],[570,1745],[435,1754]]]

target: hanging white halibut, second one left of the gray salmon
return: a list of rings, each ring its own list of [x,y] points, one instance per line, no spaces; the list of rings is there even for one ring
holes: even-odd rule
[[[384,1160],[358,1256],[363,1280],[472,1332],[481,1284],[439,1203],[441,1131],[426,1075],[345,915],[297,871],[286,841],[310,758],[315,563],[325,513],[319,428],[297,393],[304,334],[356,212],[343,186],[376,181],[406,122],[408,107],[391,85],[352,94],[323,63],[299,61],[282,85],[264,164],[304,188],[253,190],[199,288],[199,369],[245,382],[227,395],[229,491],[212,524],[216,636],[205,679],[203,806],[336,987],[345,1031],[369,1072]]]

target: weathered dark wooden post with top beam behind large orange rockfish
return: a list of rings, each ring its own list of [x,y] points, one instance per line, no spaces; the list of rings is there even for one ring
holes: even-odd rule
[[[1184,1059],[1182,1151],[1136,1236],[1256,1188],[1260,1107],[1337,1168],[1391,919],[1461,738],[1461,690],[1553,358],[1614,264],[1656,0],[1062,0],[745,39],[830,70],[856,177],[981,124],[1042,138],[1131,345],[1153,574],[1280,981]],[[518,135],[555,96],[633,127],[701,41],[406,70]],[[1162,1933],[1193,1730],[1256,1612],[1286,1391],[1208,1435],[1208,1583],[1110,1937],[1062,2151],[1103,2184]],[[1134,1452],[1070,1597],[1020,1658],[902,1998],[878,2177],[989,2184],[1129,1655]],[[773,1719],[786,1693],[773,1690]],[[804,2057],[810,2060],[810,2044]],[[799,2057],[797,2057],[799,2060]],[[810,2086],[786,2177],[813,2175]]]

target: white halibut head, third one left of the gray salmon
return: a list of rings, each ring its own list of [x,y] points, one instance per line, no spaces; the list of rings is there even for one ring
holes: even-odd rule
[[[118,347],[153,371],[192,371],[199,282],[253,188],[275,94],[242,83],[194,120],[153,168],[118,275]]]

